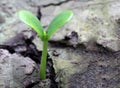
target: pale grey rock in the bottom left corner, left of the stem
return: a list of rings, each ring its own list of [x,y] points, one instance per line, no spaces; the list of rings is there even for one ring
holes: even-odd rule
[[[30,58],[0,49],[0,88],[22,88],[25,78],[33,73],[35,67]]]

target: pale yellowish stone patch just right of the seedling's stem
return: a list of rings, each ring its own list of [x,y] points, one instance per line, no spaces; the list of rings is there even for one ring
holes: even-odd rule
[[[54,49],[56,50],[56,52],[59,53],[59,56],[56,57],[52,55]],[[50,48],[50,50],[51,57],[53,58],[54,68],[56,71],[56,81],[58,82],[58,87],[69,88],[69,77],[77,72],[84,72],[88,64],[84,63],[83,58],[80,55],[69,49]],[[81,62],[83,63],[82,65],[80,64]]]

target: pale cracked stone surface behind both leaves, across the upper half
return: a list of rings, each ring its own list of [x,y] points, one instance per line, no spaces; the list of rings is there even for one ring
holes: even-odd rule
[[[59,12],[70,9],[74,12],[73,19],[59,30],[51,38],[52,41],[61,41],[73,31],[78,33],[77,44],[89,46],[94,41],[112,51],[120,50],[119,40],[119,0],[10,0],[1,1],[0,44],[15,36],[17,33],[29,30],[28,26],[21,23],[16,12],[20,9],[27,9],[37,15],[38,7],[41,7],[41,22],[48,26],[53,17]],[[39,2],[39,3],[38,3]],[[58,4],[63,2],[62,4]],[[58,5],[57,5],[58,4]],[[71,7],[72,6],[72,7]],[[49,14],[52,13],[52,14]],[[13,19],[14,18],[14,19]],[[37,41],[36,41],[37,42]],[[86,44],[87,43],[87,44]]]

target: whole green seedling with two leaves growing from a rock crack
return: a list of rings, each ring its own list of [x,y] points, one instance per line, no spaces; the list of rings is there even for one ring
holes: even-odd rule
[[[50,37],[65,23],[67,23],[73,16],[72,11],[66,10],[58,14],[50,23],[47,30],[45,31],[35,15],[26,10],[18,12],[18,16],[21,21],[29,25],[40,37],[43,42],[43,51],[40,63],[40,79],[46,79],[46,59],[47,59],[47,48],[48,40]]]

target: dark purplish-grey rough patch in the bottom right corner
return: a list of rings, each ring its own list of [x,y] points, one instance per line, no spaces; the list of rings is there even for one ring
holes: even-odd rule
[[[119,51],[110,52],[104,49],[104,52],[91,52],[82,49],[78,52],[89,65],[84,72],[71,76],[69,88],[119,88]]]

